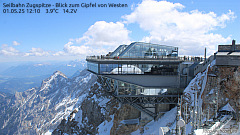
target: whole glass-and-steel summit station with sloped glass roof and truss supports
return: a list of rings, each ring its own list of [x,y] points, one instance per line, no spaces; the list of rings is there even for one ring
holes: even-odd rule
[[[177,47],[142,42],[86,57],[88,71],[98,76],[104,90],[141,111],[142,119],[158,118],[174,107],[189,82],[189,68],[204,60],[178,56]],[[192,67],[192,72],[199,69]]]

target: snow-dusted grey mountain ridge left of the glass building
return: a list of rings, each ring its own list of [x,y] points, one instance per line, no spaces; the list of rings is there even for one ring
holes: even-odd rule
[[[41,87],[16,92],[2,100],[0,134],[42,134],[51,131],[79,106],[96,77],[83,70],[74,78],[57,71]]]

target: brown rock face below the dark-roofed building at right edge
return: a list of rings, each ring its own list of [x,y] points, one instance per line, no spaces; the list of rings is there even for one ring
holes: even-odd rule
[[[203,109],[205,112],[209,110],[210,114],[214,114],[217,110],[230,104],[236,113],[236,119],[239,121],[240,111],[240,67],[216,67],[209,68],[208,79],[205,90],[202,95]],[[217,101],[215,107],[213,100]]]

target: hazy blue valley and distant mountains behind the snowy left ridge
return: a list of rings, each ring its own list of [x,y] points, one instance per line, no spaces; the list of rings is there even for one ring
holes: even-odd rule
[[[2,66],[3,67],[3,66]],[[83,60],[70,62],[30,62],[11,66],[0,72],[0,91],[5,93],[22,92],[37,87],[42,80],[55,71],[62,71],[67,77],[86,68]]]

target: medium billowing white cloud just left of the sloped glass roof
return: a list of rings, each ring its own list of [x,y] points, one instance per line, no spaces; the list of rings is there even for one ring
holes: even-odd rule
[[[129,44],[130,31],[121,22],[98,21],[89,27],[81,38],[64,45],[64,52],[71,55],[106,54],[120,44]]]

